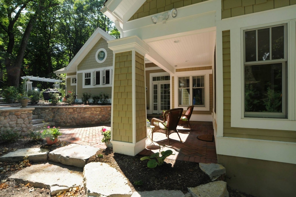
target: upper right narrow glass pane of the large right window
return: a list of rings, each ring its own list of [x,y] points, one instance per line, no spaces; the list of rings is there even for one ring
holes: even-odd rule
[[[271,28],[271,59],[284,58],[284,26]]]

